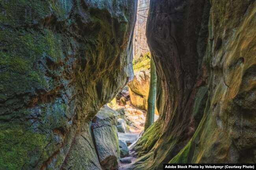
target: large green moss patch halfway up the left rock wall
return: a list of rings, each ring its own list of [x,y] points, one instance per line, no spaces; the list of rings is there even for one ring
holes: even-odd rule
[[[13,94],[36,89],[48,89],[44,71],[38,68],[42,57],[48,56],[54,63],[63,62],[62,37],[48,29],[44,33],[27,31],[0,31],[0,97],[5,100]]]

